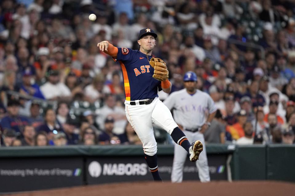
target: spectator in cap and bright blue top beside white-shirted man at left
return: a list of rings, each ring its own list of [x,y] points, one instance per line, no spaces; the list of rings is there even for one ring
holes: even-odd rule
[[[22,74],[22,86],[19,92],[24,95],[45,99],[39,85],[37,85],[36,83],[32,84],[32,79],[33,73],[31,72],[31,70],[25,70]]]

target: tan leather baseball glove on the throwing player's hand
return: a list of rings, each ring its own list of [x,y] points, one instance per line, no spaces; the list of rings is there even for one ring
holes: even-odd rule
[[[168,79],[168,70],[166,63],[161,58],[151,58],[150,65],[154,68],[153,78],[159,81]]]

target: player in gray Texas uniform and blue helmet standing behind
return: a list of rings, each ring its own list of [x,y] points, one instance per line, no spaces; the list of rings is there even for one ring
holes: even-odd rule
[[[196,89],[197,75],[194,72],[187,72],[183,81],[185,89],[171,93],[164,104],[170,110],[173,109],[175,122],[183,130],[188,140],[199,140],[203,143],[204,152],[200,154],[196,165],[201,182],[209,182],[210,175],[203,132],[210,126],[217,108],[207,93]],[[171,173],[172,182],[182,182],[183,165],[187,157],[183,151],[182,148],[175,145]]]

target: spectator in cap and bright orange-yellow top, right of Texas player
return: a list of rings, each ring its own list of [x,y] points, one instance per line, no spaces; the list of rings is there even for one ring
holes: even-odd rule
[[[239,138],[245,136],[243,126],[246,121],[247,112],[245,110],[241,110],[238,112],[238,122],[231,126],[226,126],[226,131],[230,133],[232,140],[238,140]]]

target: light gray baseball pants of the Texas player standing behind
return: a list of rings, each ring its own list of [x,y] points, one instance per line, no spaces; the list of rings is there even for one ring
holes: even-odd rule
[[[201,182],[210,182],[208,160],[206,154],[205,139],[200,132],[191,132],[184,130],[183,133],[187,136],[188,141],[193,142],[200,140],[203,144],[203,151],[199,155],[199,160],[196,161],[196,166],[199,172]],[[183,179],[183,165],[187,160],[188,153],[180,145],[174,145],[174,159],[171,173],[171,182],[181,183]]]

